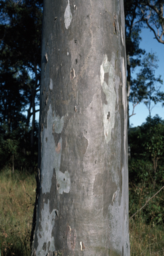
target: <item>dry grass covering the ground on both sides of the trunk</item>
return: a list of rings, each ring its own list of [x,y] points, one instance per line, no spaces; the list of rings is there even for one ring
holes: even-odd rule
[[[0,256],[30,256],[35,175],[0,172]],[[146,225],[137,214],[129,221],[131,256],[164,255],[164,227]]]

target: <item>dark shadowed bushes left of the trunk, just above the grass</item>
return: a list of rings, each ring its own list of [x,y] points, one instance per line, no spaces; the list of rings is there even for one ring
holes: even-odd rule
[[[14,167],[27,171],[31,167],[31,129],[27,129],[24,123],[19,123],[19,127],[12,133],[7,132],[5,125],[1,127],[0,136],[0,168],[5,165],[12,169],[13,157]],[[33,158],[33,167],[37,168],[38,151],[38,124],[35,123],[34,137],[35,157]]]

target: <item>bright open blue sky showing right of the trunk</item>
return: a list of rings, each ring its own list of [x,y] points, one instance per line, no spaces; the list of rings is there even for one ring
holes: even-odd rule
[[[152,50],[154,53],[156,53],[159,59],[159,63],[158,63],[159,67],[155,72],[155,75],[157,76],[161,75],[161,79],[163,79],[163,85],[161,85],[161,91],[164,91],[164,72],[163,72],[164,71],[164,45],[162,43],[159,43],[157,39],[153,39],[154,34],[149,29],[143,29],[143,31],[141,32],[141,38],[142,38],[142,41],[140,43],[141,49],[145,49],[147,53],[151,52]],[[133,111],[133,107],[131,103],[129,105],[129,108],[130,108],[129,113],[131,114]],[[130,117],[130,120],[129,120],[130,125],[133,124],[133,127],[144,123],[146,117],[149,115],[149,111],[143,103],[140,103],[135,107],[134,113],[136,113],[136,115],[133,115],[132,117]],[[151,112],[152,117],[156,114],[158,114],[159,117],[162,117],[162,119],[164,119],[164,107],[161,107],[161,103],[158,103],[152,109],[152,112]]]

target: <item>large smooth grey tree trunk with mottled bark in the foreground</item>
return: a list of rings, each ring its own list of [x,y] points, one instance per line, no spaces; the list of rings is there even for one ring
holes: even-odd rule
[[[32,255],[129,256],[123,1],[46,0]]]

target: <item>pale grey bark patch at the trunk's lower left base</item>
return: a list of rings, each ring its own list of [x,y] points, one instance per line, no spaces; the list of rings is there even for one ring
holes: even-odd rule
[[[49,208],[49,200],[48,203],[44,203],[44,207],[41,211],[41,219],[39,219],[41,223],[41,229],[37,230],[37,238],[38,238],[38,247],[36,251],[36,255],[44,256],[49,251],[55,251],[54,247],[54,237],[52,237],[52,229],[54,227],[54,219],[56,209],[50,213]],[[42,249],[44,245],[44,249]]]

